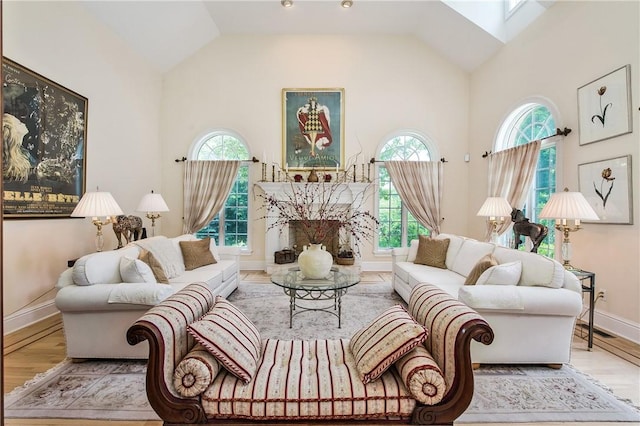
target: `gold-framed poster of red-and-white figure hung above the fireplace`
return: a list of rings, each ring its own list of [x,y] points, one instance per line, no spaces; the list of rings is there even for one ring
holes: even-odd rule
[[[282,89],[282,167],[344,169],[344,89]]]

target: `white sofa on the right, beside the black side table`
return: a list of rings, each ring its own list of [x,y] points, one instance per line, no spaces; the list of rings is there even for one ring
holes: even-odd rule
[[[408,248],[393,250],[393,287],[405,301],[416,284],[429,283],[480,313],[493,329],[495,339],[491,346],[472,344],[471,359],[475,364],[569,362],[573,329],[582,310],[582,289],[571,272],[536,253],[451,234],[435,238],[449,239],[446,269],[414,263],[418,240]],[[491,280],[491,284],[464,284],[476,263],[488,254],[503,269],[508,267],[505,264],[521,264],[515,282],[511,278],[509,284]]]

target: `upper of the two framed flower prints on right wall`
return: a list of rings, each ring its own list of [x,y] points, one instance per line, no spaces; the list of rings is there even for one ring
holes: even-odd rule
[[[631,66],[578,89],[580,145],[631,133]]]

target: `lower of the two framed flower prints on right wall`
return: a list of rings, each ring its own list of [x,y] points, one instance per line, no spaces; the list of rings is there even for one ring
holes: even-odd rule
[[[592,223],[633,224],[630,155],[580,164],[578,179],[580,192],[600,218]]]

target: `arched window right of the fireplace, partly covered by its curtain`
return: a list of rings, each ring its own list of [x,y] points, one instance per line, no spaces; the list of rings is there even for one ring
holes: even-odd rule
[[[383,161],[431,161],[433,149],[427,140],[415,133],[402,133],[391,137],[383,145],[378,158]],[[380,228],[377,246],[379,250],[406,247],[418,234],[429,235],[400,200],[384,165],[378,166],[378,219]]]

